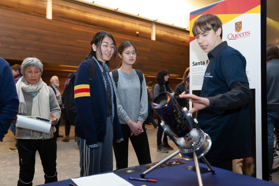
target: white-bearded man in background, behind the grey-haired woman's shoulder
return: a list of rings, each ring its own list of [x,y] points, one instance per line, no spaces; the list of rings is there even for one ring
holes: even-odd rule
[[[50,78],[50,88],[52,88],[52,90],[54,91],[55,95],[56,95],[56,99],[57,99],[57,102],[59,104],[59,107],[61,108],[61,111],[62,111],[62,97],[61,97],[61,90],[59,89],[59,79],[57,76],[52,76]],[[62,111],[63,112],[63,111]],[[63,137],[63,135],[60,135],[59,134],[59,126],[60,126],[60,121],[58,121],[58,123],[55,125],[55,128],[56,128],[56,136],[57,137]]]

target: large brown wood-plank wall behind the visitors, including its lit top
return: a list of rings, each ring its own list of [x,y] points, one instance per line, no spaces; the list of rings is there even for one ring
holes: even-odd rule
[[[92,11],[94,10],[94,11]],[[93,35],[109,31],[116,44],[131,41],[139,55],[134,68],[141,69],[146,82],[153,81],[159,70],[170,72],[171,87],[181,81],[189,66],[189,33],[156,25],[156,41],[150,40],[150,23],[89,7],[53,0],[53,20],[45,18],[45,1],[9,0],[0,2],[0,56],[7,60],[22,61],[38,57],[46,73],[65,79],[90,50]],[[135,31],[139,31],[137,37]],[[110,61],[110,69],[119,65],[119,58]],[[62,72],[62,70],[69,70]]]

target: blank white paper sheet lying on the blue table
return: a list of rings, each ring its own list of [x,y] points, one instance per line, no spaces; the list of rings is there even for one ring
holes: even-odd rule
[[[110,172],[80,178],[72,178],[73,182],[78,186],[133,186],[128,181]]]

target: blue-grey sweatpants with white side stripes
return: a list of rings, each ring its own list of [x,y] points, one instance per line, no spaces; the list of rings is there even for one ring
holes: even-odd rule
[[[80,176],[87,176],[106,171],[112,171],[112,122],[111,118],[107,118],[107,129],[105,133],[105,141],[98,148],[89,148],[86,140],[76,136],[76,142],[80,149]]]

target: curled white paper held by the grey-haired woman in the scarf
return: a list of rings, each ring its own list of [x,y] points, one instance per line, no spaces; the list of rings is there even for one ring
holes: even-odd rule
[[[16,119],[16,127],[49,133],[52,120],[43,117],[38,118],[41,119],[37,119],[36,116],[18,115]],[[44,119],[49,121],[45,121]]]

